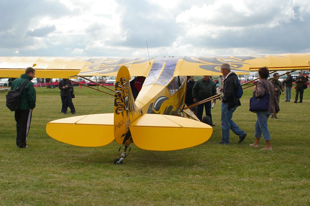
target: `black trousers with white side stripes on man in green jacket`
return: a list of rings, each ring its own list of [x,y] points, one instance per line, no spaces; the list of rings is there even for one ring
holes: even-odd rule
[[[16,121],[16,145],[17,147],[26,147],[27,135],[30,129],[32,110],[17,110],[15,111]]]

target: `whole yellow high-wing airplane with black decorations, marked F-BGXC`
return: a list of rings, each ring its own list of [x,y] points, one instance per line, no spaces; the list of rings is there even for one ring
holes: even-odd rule
[[[122,164],[130,144],[144,150],[170,151],[206,142],[213,129],[184,109],[186,76],[220,75],[220,66],[231,65],[237,74],[262,66],[270,70],[308,68],[310,53],[185,56],[185,57],[0,57],[0,77],[20,77],[36,64],[38,78],[117,76],[114,113],[73,116],[47,123],[47,134],[64,143],[100,147],[115,140],[124,147],[114,164]],[[145,77],[134,98],[131,76]],[[192,117],[192,119],[186,117]],[[101,134],[98,136],[98,134]],[[191,134],[195,134],[194,136]],[[127,151],[127,149],[129,150]]]

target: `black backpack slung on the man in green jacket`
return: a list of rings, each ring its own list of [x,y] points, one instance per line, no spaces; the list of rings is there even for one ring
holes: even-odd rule
[[[7,108],[9,108],[12,112],[17,111],[19,109],[20,103],[20,95],[23,92],[25,86],[28,84],[29,80],[26,80],[24,84],[20,87],[17,87],[16,90],[11,90],[7,92]]]

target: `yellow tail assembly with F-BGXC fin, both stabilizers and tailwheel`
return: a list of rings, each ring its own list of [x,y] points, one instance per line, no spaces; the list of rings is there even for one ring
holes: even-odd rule
[[[114,113],[51,121],[46,127],[47,134],[60,142],[82,147],[100,147],[115,139],[125,150],[114,164],[122,164],[132,142],[144,150],[170,151],[193,147],[210,138],[212,127],[200,121],[143,114],[132,97],[130,79],[128,69],[121,67],[115,84]]]

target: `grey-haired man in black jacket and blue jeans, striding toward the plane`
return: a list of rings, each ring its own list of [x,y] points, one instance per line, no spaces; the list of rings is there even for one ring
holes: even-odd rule
[[[224,86],[222,91],[222,107],[221,107],[221,121],[222,121],[222,142],[219,144],[229,144],[230,129],[239,136],[238,143],[241,143],[246,138],[246,133],[241,130],[234,121],[232,121],[232,114],[238,106],[241,105],[240,100],[234,94],[237,92],[237,75],[230,70],[229,64],[221,66],[221,72],[225,76]]]

